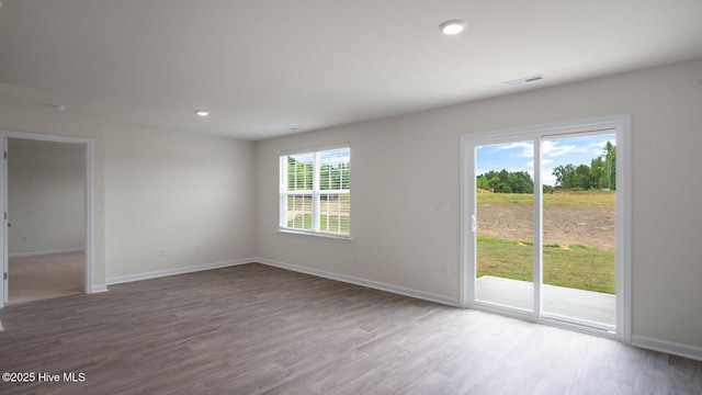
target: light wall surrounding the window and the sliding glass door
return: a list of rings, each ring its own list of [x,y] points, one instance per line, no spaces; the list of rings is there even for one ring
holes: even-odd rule
[[[700,349],[702,59],[261,142],[258,253],[457,300],[460,135],[622,113],[633,136],[633,335]],[[351,144],[354,241],[278,234],[279,154],[336,143]]]

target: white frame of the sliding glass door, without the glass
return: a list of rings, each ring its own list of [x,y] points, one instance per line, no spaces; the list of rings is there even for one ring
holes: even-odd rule
[[[542,137],[574,135],[613,129],[616,133],[616,330],[614,334],[574,323],[545,318],[542,315],[541,245],[534,253],[534,311],[522,312],[476,302],[475,298],[475,205],[476,145],[508,142],[534,142],[534,246],[542,240],[543,190],[541,182]],[[614,132],[613,132],[614,133]],[[463,307],[496,313],[529,321],[631,342],[631,115],[620,114],[552,124],[530,125],[506,129],[465,133],[461,135],[461,272],[460,298]]]

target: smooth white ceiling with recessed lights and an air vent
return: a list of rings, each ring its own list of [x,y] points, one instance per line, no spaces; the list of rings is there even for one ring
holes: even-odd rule
[[[0,98],[254,140],[702,57],[701,0],[0,1]]]

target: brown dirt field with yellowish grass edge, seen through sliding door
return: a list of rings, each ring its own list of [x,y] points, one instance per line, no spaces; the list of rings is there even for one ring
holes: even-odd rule
[[[508,240],[533,239],[531,195],[478,194],[478,235]],[[614,193],[544,195],[544,244],[578,244],[614,250]]]

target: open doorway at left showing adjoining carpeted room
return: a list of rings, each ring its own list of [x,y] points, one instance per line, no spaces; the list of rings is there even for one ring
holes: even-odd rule
[[[91,143],[2,132],[0,307],[91,293]]]

